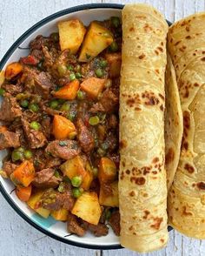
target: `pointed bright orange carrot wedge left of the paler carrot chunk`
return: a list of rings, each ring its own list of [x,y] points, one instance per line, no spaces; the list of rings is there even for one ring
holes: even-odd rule
[[[79,85],[80,83],[78,80],[73,80],[72,82],[69,82],[69,84],[65,84],[59,91],[55,91],[53,95],[56,98],[74,99],[76,98]]]

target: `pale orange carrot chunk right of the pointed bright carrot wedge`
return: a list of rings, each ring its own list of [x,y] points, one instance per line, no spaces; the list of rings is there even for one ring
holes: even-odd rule
[[[102,92],[105,84],[105,79],[89,77],[81,84],[81,89],[85,91],[90,98],[97,98],[98,94]]]

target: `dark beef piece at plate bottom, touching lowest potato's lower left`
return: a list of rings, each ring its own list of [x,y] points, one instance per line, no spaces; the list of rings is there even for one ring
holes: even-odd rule
[[[77,219],[76,215],[73,215],[72,213],[69,213],[68,215],[67,230],[79,237],[83,237],[85,234],[85,229],[80,225],[79,219]]]

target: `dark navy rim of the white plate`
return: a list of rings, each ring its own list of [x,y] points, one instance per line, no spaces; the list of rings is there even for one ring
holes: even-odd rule
[[[44,24],[49,23],[51,20],[55,19],[56,17],[62,17],[63,15],[76,12],[79,10],[89,10],[89,9],[120,9],[122,10],[124,4],[119,3],[89,3],[89,4],[82,4],[77,5],[65,10],[60,10],[54,14],[51,14],[48,17],[43,18],[38,23],[34,24],[30,27],[29,30],[26,30],[21,37],[18,37],[14,44],[10,46],[10,49],[6,51],[4,54],[2,60],[0,61],[0,70],[3,69],[4,64],[7,62],[9,57],[12,55],[14,51],[17,50],[18,46],[23,43],[23,41],[26,39],[26,37],[29,37],[30,34],[32,34],[35,30],[43,26]],[[167,21],[169,25],[171,23]],[[0,182],[0,192],[3,195],[3,198],[6,199],[6,201],[10,204],[10,206],[17,212],[18,215],[20,215],[26,222],[28,222],[31,226],[35,227],[38,231],[43,232],[45,235],[48,235],[52,239],[56,239],[58,241],[61,241],[65,244],[71,245],[71,246],[77,246],[82,248],[88,248],[88,249],[96,249],[96,250],[111,250],[111,249],[121,249],[123,248],[121,245],[110,245],[110,246],[96,246],[96,245],[85,245],[80,242],[70,241],[68,239],[64,239],[63,237],[59,237],[56,234],[49,232],[48,230],[44,229],[42,226],[38,226],[35,222],[33,222],[18,206],[17,204],[10,199],[9,194],[5,191],[2,183]],[[168,230],[171,231],[172,227],[168,227]]]

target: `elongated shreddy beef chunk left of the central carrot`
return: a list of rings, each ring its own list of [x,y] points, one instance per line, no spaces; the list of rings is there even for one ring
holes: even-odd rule
[[[30,148],[35,149],[43,147],[43,145],[47,143],[43,132],[30,129],[30,123],[26,119],[22,118],[22,125],[25,136],[30,144]]]

